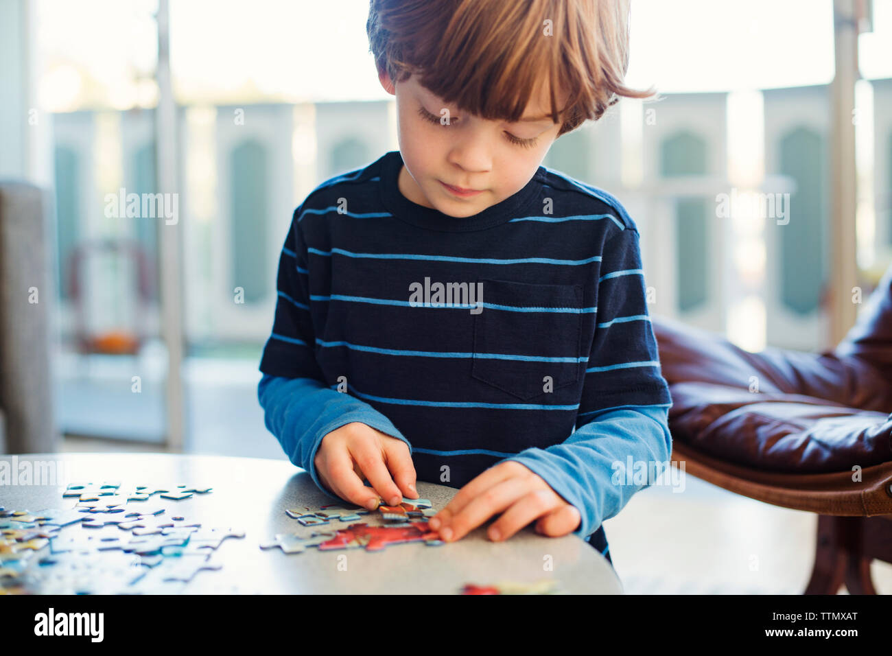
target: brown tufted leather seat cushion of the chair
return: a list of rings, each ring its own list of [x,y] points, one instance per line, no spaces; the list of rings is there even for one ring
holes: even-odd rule
[[[706,330],[652,322],[673,397],[673,439],[765,471],[838,472],[892,461],[892,384],[862,358],[749,353]]]

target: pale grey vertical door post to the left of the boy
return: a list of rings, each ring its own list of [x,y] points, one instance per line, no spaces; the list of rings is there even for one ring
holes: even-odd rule
[[[155,112],[155,165],[158,188],[162,193],[178,194],[177,175],[177,105],[170,80],[169,2],[159,0],[158,13],[158,108]],[[181,206],[178,204],[178,206]],[[183,277],[180,266],[179,221],[160,220],[158,245],[161,251],[161,336],[168,352],[167,381],[164,390],[167,412],[167,445],[182,451],[185,439],[183,403]]]

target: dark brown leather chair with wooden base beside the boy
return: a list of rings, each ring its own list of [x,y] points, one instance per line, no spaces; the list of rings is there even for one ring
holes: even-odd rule
[[[749,353],[653,317],[673,461],[715,486],[817,513],[805,594],[876,594],[892,562],[892,267],[835,348]]]

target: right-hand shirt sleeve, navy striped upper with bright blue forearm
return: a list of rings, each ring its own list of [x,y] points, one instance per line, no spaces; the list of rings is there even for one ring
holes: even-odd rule
[[[607,241],[598,290],[598,323],[574,432],[562,444],[508,458],[580,511],[575,533],[582,537],[648,486],[647,477],[628,471],[630,458],[633,469],[651,471],[666,465],[672,452],[672,400],[659,369],[636,229]]]

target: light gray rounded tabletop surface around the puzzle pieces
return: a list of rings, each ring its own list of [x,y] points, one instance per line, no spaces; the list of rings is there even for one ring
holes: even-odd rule
[[[114,481],[125,486],[176,485],[212,487],[211,493],[172,501],[128,502],[128,508],[162,506],[169,516],[199,521],[202,527],[231,527],[244,538],[227,538],[212,552],[214,571],[198,572],[189,584],[171,587],[186,594],[456,594],[463,585],[500,581],[539,583],[551,580],[568,594],[621,594],[614,569],[590,544],[577,536],[544,537],[525,528],[493,543],[478,528],[455,543],[392,544],[384,551],[349,549],[286,554],[260,549],[277,534],[309,536],[345,524],[302,527],[285,509],[311,509],[336,502],[315,486],[310,474],[286,461],[166,453],[70,453],[2,456],[11,483],[0,484],[0,506],[9,510],[70,509],[76,499],[62,498],[69,483]],[[31,480],[23,472],[31,469]],[[43,463],[42,465],[40,463]],[[52,466],[47,463],[54,463]],[[2,466],[2,465],[0,465]],[[54,473],[51,474],[51,469]],[[42,480],[37,478],[42,477]],[[45,485],[50,483],[51,485]],[[39,485],[43,484],[43,485]],[[418,481],[418,494],[439,510],[457,490]],[[383,523],[376,513],[361,518]],[[63,527],[62,535],[89,531]],[[118,530],[112,527],[98,529]],[[48,552],[45,547],[35,556]]]

